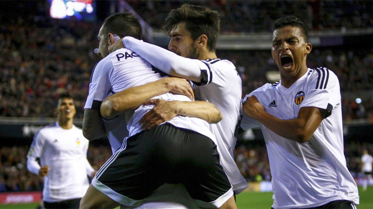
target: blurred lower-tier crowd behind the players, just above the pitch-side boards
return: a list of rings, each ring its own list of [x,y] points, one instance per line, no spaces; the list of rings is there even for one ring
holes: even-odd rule
[[[43,179],[26,168],[28,146],[0,148],[0,192],[41,191]],[[347,167],[352,176],[362,177],[360,158],[363,150],[373,154],[372,143],[345,142]],[[112,155],[106,146],[90,146],[87,158],[99,169]],[[265,145],[240,145],[234,150],[236,164],[247,181],[270,181],[269,160]]]

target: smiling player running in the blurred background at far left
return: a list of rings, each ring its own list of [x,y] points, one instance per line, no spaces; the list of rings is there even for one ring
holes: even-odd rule
[[[79,208],[89,186],[87,175],[95,174],[87,160],[89,141],[73,125],[76,110],[71,96],[61,94],[57,110],[57,122],[35,135],[27,155],[27,169],[44,177],[45,208]]]

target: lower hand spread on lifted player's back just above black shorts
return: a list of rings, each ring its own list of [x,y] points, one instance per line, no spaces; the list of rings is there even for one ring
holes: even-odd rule
[[[145,113],[140,120],[141,129],[152,129],[165,121],[172,120],[178,115],[176,100],[165,101],[163,99],[150,99],[144,105],[156,105],[149,112]]]

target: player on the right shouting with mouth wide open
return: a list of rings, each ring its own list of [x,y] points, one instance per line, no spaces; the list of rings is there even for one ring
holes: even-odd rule
[[[355,208],[359,196],[344,157],[338,78],[324,67],[307,68],[312,45],[298,17],[280,18],[272,30],[281,80],[243,99],[247,115],[241,122],[244,129],[253,125],[251,119],[261,123],[272,208]]]

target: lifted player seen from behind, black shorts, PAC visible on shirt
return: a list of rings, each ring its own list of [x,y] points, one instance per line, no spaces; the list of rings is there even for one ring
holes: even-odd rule
[[[100,128],[100,106],[109,92],[117,93],[162,78],[159,71],[129,49],[109,54],[107,47],[116,35],[140,39],[140,23],[131,13],[116,13],[101,26],[98,39],[103,59],[94,68],[85,104],[83,132],[87,136],[104,131]],[[210,105],[204,101],[191,102],[181,94],[164,93],[153,98]],[[184,184],[198,206],[235,208],[232,186],[219,164],[216,139],[208,123],[184,115],[142,131],[139,121],[153,105],[131,101],[132,98],[125,100],[126,108],[120,109],[126,117],[129,138],[100,168],[81,200],[81,208],[137,205],[164,183]]]

